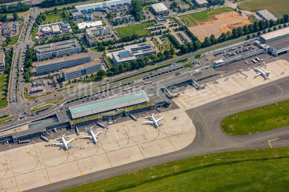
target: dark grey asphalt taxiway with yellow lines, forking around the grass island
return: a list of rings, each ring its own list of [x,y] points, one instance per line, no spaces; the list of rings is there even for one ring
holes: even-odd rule
[[[223,133],[219,126],[221,120],[228,115],[288,99],[288,83],[289,76],[187,110],[187,114],[196,127],[196,136],[190,145],[179,151],[51,183],[27,191],[60,191],[96,180],[110,178],[142,168],[197,155],[222,151],[270,148],[271,146],[289,146],[289,126],[244,136],[229,136]],[[279,139],[270,142],[270,146],[268,140],[276,138]]]

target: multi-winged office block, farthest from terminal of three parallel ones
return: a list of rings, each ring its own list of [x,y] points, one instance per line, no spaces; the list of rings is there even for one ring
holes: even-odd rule
[[[60,57],[62,55],[80,53],[82,50],[77,42],[77,39],[69,39],[65,41],[35,46],[34,51],[36,52],[37,60],[40,61],[41,59],[52,58],[52,54],[54,57]]]

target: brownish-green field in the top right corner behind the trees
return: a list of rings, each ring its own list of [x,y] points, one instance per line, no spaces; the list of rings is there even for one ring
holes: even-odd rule
[[[271,0],[253,0],[238,5],[239,9],[256,12],[259,10],[268,10],[277,18],[282,18],[284,14],[289,13],[289,1],[288,0],[275,0],[272,3]]]

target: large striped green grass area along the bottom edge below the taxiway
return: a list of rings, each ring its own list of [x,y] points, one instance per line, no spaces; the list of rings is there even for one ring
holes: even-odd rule
[[[286,191],[288,158],[289,147],[214,153],[64,191]]]

